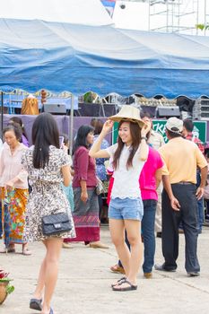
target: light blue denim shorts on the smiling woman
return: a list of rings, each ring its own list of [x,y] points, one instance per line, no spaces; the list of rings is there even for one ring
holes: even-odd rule
[[[110,219],[132,219],[142,221],[144,205],[141,198],[111,198],[109,203]]]

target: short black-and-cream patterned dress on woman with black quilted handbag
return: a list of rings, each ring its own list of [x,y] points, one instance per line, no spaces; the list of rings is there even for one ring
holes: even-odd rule
[[[69,157],[64,151],[51,145],[48,165],[44,169],[35,169],[32,162],[33,149],[34,146],[31,146],[22,156],[22,165],[28,171],[32,188],[27,204],[23,237],[27,241],[48,239],[42,233],[42,217],[48,214],[67,213],[73,228],[71,231],[57,234],[57,237],[74,238],[74,221],[69,210],[70,205],[60,184],[63,182],[61,168],[70,163]]]

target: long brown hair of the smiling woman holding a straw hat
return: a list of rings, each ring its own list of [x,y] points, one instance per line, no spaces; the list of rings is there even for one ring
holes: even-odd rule
[[[130,133],[131,133],[131,137],[132,137],[132,144],[130,147],[130,153],[126,162],[126,168],[130,168],[133,166],[133,158],[135,156],[135,152],[137,151],[139,144],[141,143],[141,128],[138,125],[138,123],[132,122],[132,121],[126,121],[126,120],[121,120],[118,124],[118,130],[120,128],[120,126],[122,125],[122,123],[124,122],[129,122],[130,125]],[[124,143],[122,142],[120,136],[118,136],[118,148],[116,150],[116,152],[114,153],[113,156],[113,167],[114,169],[118,168],[119,165],[119,158],[121,155],[121,152],[123,150],[124,147]]]

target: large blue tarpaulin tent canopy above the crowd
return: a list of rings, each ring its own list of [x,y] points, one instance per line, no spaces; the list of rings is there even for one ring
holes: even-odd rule
[[[0,91],[209,96],[209,38],[0,19]]]

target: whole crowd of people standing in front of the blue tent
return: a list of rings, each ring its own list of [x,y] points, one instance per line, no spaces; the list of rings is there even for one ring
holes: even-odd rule
[[[118,141],[109,145],[105,137],[114,122],[118,122]],[[56,120],[48,113],[35,119],[31,146],[21,118],[12,118],[4,127],[0,252],[15,253],[15,245],[22,244],[22,254],[30,256],[28,243],[36,240],[46,249],[30,309],[53,314],[51,299],[62,247],[81,241],[89,248],[109,249],[100,241],[104,200],[99,181],[109,181],[109,231],[118,253],[118,263],[110,269],[123,274],[111,284],[113,291],[137,289],[143,260],[147,279],[152,278],[153,267],[176,271],[179,231],[185,234],[187,275],[200,274],[196,250],[204,211],[209,217],[209,149],[192,134],[189,119],[169,118],[165,130],[167,144],[152,129],[149,114],[125,105],[104,124],[94,118],[90,126],[79,127],[72,159],[67,136],[62,135],[60,145]],[[58,220],[59,214],[67,219]],[[57,222],[51,223],[55,216]],[[54,233],[46,233],[46,217],[47,224],[57,228]],[[154,265],[155,232],[162,243],[161,265]]]

